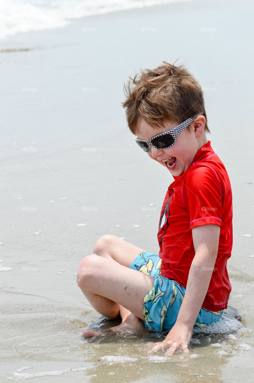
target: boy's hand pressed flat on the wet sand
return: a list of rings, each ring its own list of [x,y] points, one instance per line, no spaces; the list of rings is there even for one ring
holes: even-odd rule
[[[153,343],[153,347],[148,351],[148,354],[151,355],[161,349],[167,349],[164,354],[165,356],[173,355],[178,349],[188,353],[188,344],[191,341],[192,334],[192,328],[190,329],[185,324],[177,324],[176,322],[163,342]],[[149,347],[151,347],[151,345]]]

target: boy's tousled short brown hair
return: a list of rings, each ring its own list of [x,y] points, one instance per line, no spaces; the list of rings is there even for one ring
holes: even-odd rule
[[[124,84],[126,119],[130,131],[137,134],[140,119],[160,127],[166,121],[181,123],[199,113],[205,116],[205,132],[210,133],[202,88],[184,65],[163,61],[155,69],[140,69]],[[190,129],[188,126],[187,129]]]

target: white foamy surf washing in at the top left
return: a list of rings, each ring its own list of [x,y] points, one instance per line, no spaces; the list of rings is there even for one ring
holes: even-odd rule
[[[179,1],[190,0],[0,0],[0,39],[63,27],[70,19]]]

